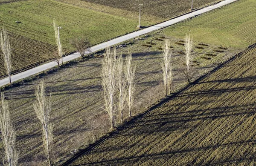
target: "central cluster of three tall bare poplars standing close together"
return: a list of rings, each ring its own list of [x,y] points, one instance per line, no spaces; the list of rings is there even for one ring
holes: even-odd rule
[[[122,54],[116,54],[116,49],[105,49],[105,56],[102,60],[102,88],[104,91],[105,106],[111,120],[111,129],[115,126],[116,110],[120,114],[120,121],[123,122],[123,111],[127,103],[129,117],[134,104],[135,91],[135,66],[132,64],[132,54],[128,52],[123,64]],[[116,98],[117,102],[116,102]],[[125,103],[126,99],[126,103]]]

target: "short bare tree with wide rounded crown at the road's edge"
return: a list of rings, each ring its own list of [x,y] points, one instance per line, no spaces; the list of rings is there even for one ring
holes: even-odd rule
[[[84,57],[86,51],[90,52],[90,42],[87,40],[84,34],[75,35],[72,37],[70,39],[70,44],[78,50],[81,57]]]

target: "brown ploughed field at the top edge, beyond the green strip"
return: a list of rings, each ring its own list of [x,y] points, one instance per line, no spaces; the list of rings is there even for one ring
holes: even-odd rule
[[[64,0],[65,1],[65,0]],[[169,19],[179,14],[191,11],[191,0],[81,0],[97,3],[103,6],[139,12],[139,4],[142,6],[142,15],[151,15],[159,19]],[[207,4],[216,3],[219,0],[195,0],[193,8],[196,9]]]

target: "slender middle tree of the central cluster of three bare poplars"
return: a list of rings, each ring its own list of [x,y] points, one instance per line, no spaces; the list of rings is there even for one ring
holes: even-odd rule
[[[116,80],[117,80],[117,86],[119,91],[119,101],[118,101],[118,110],[120,112],[120,119],[121,123],[123,122],[123,111],[125,108],[125,98],[127,95],[126,89],[125,89],[125,77],[123,75],[123,58],[122,54],[119,55],[117,60],[117,71],[116,71]]]

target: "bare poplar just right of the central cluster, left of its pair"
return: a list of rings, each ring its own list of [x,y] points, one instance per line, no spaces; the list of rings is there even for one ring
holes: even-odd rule
[[[165,95],[171,93],[171,85],[172,85],[172,67],[171,67],[171,57],[172,51],[170,49],[170,40],[166,38],[163,45],[163,62],[161,62],[161,67],[163,70],[163,83]]]

